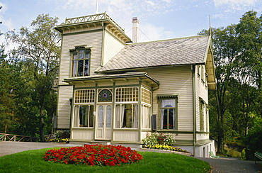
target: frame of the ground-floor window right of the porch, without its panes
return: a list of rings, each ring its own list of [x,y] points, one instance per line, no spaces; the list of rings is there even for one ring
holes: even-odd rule
[[[159,110],[159,123],[157,126],[157,130],[161,130],[161,131],[174,131],[174,130],[178,130],[178,96],[177,95],[157,95],[157,99],[158,99],[158,110]],[[175,100],[175,107],[162,107],[162,101],[163,100]],[[174,109],[173,113],[175,113],[174,116],[174,124],[175,127],[174,128],[169,128],[169,125],[166,125],[166,128],[162,127],[163,125],[161,124],[161,118],[162,118],[162,111],[164,109]],[[167,116],[166,118],[166,123],[169,122],[169,116]],[[164,120],[163,120],[164,122]]]

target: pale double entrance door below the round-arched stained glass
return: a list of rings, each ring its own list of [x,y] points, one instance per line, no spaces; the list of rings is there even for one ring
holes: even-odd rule
[[[111,140],[112,105],[98,105],[96,120],[96,139]]]

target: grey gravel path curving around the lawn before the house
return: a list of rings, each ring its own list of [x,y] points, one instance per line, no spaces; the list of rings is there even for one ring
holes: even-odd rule
[[[11,155],[16,152],[26,151],[26,150],[38,150],[48,147],[74,147],[79,145],[81,144],[0,141],[0,157],[4,155]],[[143,149],[137,149],[137,150],[150,151],[150,150],[143,150]],[[154,150],[151,151],[154,152]],[[170,152],[166,152],[166,153],[170,153]],[[200,157],[195,157],[195,158],[208,162],[212,167],[212,173],[218,173],[218,172],[219,173],[246,173],[246,172],[262,173],[262,167],[259,165],[262,164],[262,162],[257,162],[259,164],[255,164],[254,161],[242,161],[233,157],[220,157],[220,159],[200,158]]]

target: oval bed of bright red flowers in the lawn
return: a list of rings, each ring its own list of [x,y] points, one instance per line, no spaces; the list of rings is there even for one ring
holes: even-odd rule
[[[142,160],[142,155],[130,147],[121,145],[84,145],[84,147],[62,147],[45,152],[45,161],[65,164],[87,164],[115,166]]]

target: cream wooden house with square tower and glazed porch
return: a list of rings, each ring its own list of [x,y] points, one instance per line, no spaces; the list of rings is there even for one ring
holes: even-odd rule
[[[209,35],[132,43],[106,13],[67,18],[55,29],[62,33],[57,128],[70,129],[71,142],[141,144],[157,131],[173,133],[174,145],[195,156],[215,152]]]

